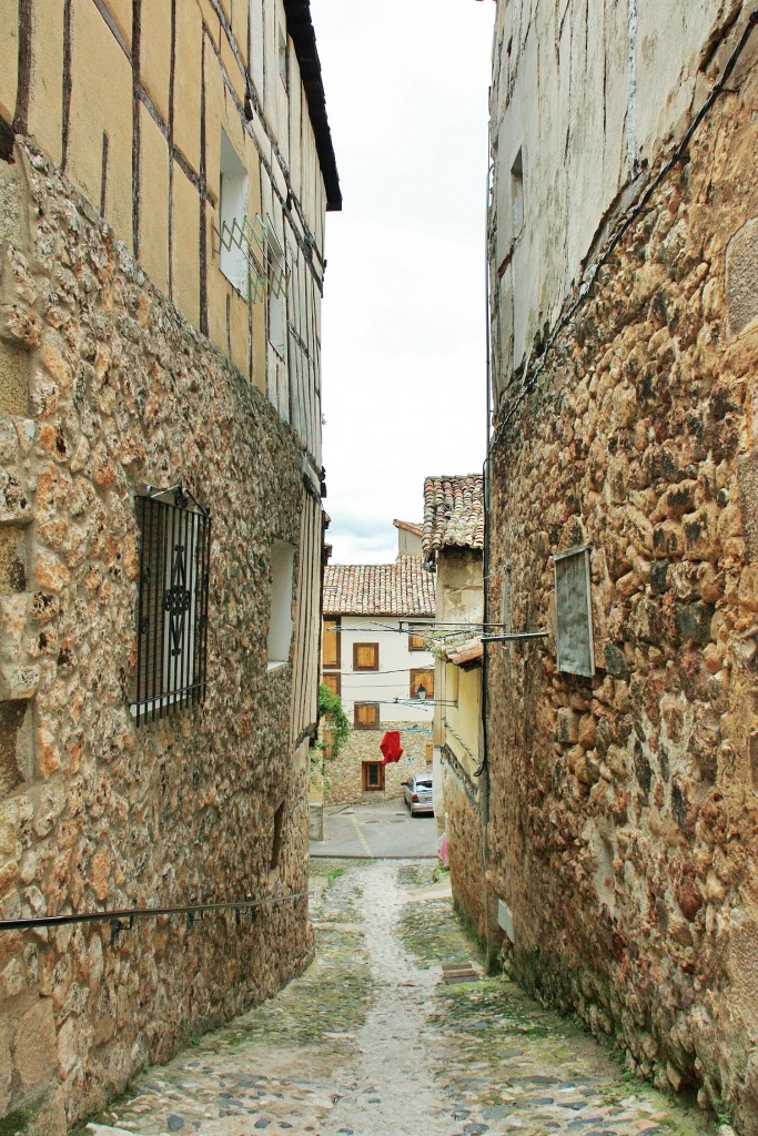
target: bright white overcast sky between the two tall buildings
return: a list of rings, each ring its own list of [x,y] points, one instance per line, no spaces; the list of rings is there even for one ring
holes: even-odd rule
[[[491,0],[311,0],[344,198],[326,217],[333,563],[391,561],[424,477],[485,449]]]

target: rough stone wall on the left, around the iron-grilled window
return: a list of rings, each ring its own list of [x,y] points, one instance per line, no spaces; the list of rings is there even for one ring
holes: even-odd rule
[[[297,440],[25,143],[0,162],[0,917],[305,892],[291,668],[266,670]],[[136,728],[133,496],[180,478],[213,518],[208,696]],[[310,952],[305,897],[0,930],[0,1117],[60,1136]]]

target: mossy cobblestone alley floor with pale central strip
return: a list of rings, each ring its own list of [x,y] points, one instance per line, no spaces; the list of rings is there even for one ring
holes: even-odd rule
[[[695,1136],[636,1081],[475,959],[433,864],[314,863],[317,958],[276,999],[152,1068],[91,1133],[163,1136]]]

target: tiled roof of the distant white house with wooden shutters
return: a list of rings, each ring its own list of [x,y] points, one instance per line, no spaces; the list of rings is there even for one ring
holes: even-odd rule
[[[433,616],[432,573],[420,557],[398,557],[392,565],[327,565],[325,616]]]

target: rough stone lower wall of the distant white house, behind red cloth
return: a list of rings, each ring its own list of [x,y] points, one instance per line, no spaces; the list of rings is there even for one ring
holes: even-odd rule
[[[400,761],[384,767],[384,792],[361,792],[361,762],[382,761],[380,742],[389,729],[400,732],[403,753]],[[326,804],[356,804],[372,797],[402,796],[402,782],[414,774],[432,771],[426,765],[426,746],[432,742],[432,725],[423,729],[416,722],[385,722],[380,729],[355,729],[339,758],[324,759],[324,801]],[[411,759],[408,763],[407,758]]]

